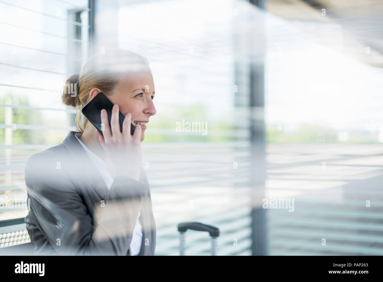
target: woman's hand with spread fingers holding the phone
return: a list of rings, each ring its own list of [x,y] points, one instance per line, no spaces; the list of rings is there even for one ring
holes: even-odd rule
[[[114,105],[110,126],[106,110],[101,110],[101,128],[103,134],[97,131],[101,146],[106,152],[106,156],[114,164],[116,175],[131,177],[139,181],[141,172],[142,152],[141,152],[141,125],[136,125],[134,134],[130,134],[131,113],[125,115],[123,130],[120,131],[119,107]]]

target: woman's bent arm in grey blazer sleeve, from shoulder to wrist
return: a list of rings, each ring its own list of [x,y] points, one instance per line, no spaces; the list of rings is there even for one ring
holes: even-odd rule
[[[102,201],[93,203],[93,222],[66,170],[36,165],[43,161],[35,160],[38,155],[28,160],[25,169],[28,197],[31,198],[28,220],[36,222],[59,254],[125,256],[149,187],[130,177],[116,176],[105,205]],[[55,156],[49,159],[57,159],[56,154],[52,155]],[[30,236],[34,245],[44,243],[34,241],[34,234]],[[36,240],[41,240],[41,236],[36,234]]]

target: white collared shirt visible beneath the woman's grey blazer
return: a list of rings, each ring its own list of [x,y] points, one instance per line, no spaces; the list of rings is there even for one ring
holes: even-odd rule
[[[76,134],[74,134],[74,135],[76,136]],[[110,187],[112,186],[112,183],[113,183],[113,177],[110,175],[110,173],[106,169],[106,162],[104,162],[102,159],[100,159],[100,157],[98,157],[95,153],[90,151],[87,148],[87,146],[85,146],[85,144],[82,143],[77,136],[76,136],[76,138],[77,138],[77,140],[79,140],[81,146],[87,152],[92,163],[100,171],[102,178],[105,180],[106,186],[110,190]],[[141,215],[141,211],[139,211],[139,213],[138,213],[137,220],[136,220],[136,226],[134,226],[133,238],[132,238],[132,241],[130,243],[131,252],[135,256],[140,253],[141,243],[142,243],[142,226],[141,226],[141,221],[140,221],[140,215]]]

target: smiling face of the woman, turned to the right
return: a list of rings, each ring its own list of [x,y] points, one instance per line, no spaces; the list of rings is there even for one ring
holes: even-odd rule
[[[118,104],[121,113],[131,113],[131,122],[136,126],[137,122],[149,122],[149,117],[157,112],[154,107],[154,82],[149,70],[134,72],[121,79],[116,86],[115,92],[108,98],[113,104]],[[146,127],[141,125],[141,141],[144,140]]]

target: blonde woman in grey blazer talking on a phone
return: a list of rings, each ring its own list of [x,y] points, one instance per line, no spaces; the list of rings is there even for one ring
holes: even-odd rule
[[[35,254],[154,255],[155,221],[140,143],[156,113],[147,61],[125,50],[97,54],[65,86],[62,101],[77,108],[79,131],[32,155],[25,167],[31,198],[25,223]],[[81,108],[100,92],[115,104],[111,126],[100,113],[103,134],[80,119]],[[122,132],[119,111],[125,115]]]

